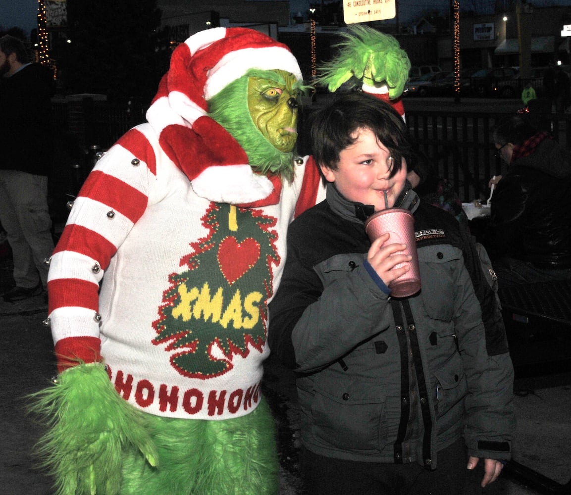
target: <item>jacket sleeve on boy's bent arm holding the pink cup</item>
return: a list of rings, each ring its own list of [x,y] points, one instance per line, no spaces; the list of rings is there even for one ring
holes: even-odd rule
[[[335,256],[320,262],[322,279],[311,261],[312,240],[315,236],[291,224],[282,281],[269,305],[270,349],[298,372],[335,363],[392,321],[388,295],[365,269],[364,255],[357,255],[355,267]]]

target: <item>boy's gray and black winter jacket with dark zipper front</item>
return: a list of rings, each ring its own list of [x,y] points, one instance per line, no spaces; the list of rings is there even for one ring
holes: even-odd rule
[[[328,457],[435,469],[436,452],[464,435],[470,455],[508,459],[513,367],[503,325],[482,323],[478,276],[465,267],[473,244],[412,190],[400,207],[415,216],[422,283],[404,299],[391,298],[368,265],[361,206],[331,184],[327,200],[289,228],[268,341],[299,373],[303,444]]]

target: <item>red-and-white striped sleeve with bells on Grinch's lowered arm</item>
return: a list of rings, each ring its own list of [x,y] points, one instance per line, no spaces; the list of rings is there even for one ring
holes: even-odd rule
[[[147,207],[155,169],[150,143],[133,129],[99,159],[74,201],[47,284],[59,371],[101,360],[99,282]]]

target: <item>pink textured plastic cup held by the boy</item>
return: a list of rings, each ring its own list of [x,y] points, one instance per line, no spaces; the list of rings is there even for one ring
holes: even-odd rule
[[[365,232],[371,242],[389,232],[391,237],[387,243],[406,244],[403,253],[412,256],[410,261],[395,265],[395,268],[400,268],[408,263],[410,269],[389,284],[391,296],[408,297],[420,291],[419,258],[416,253],[415,219],[412,213],[401,208],[377,211],[365,222]]]

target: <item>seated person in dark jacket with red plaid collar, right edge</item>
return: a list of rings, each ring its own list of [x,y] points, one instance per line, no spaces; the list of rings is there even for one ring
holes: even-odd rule
[[[508,172],[493,181],[484,245],[500,288],[571,278],[569,152],[525,115],[502,119],[493,140]]]

